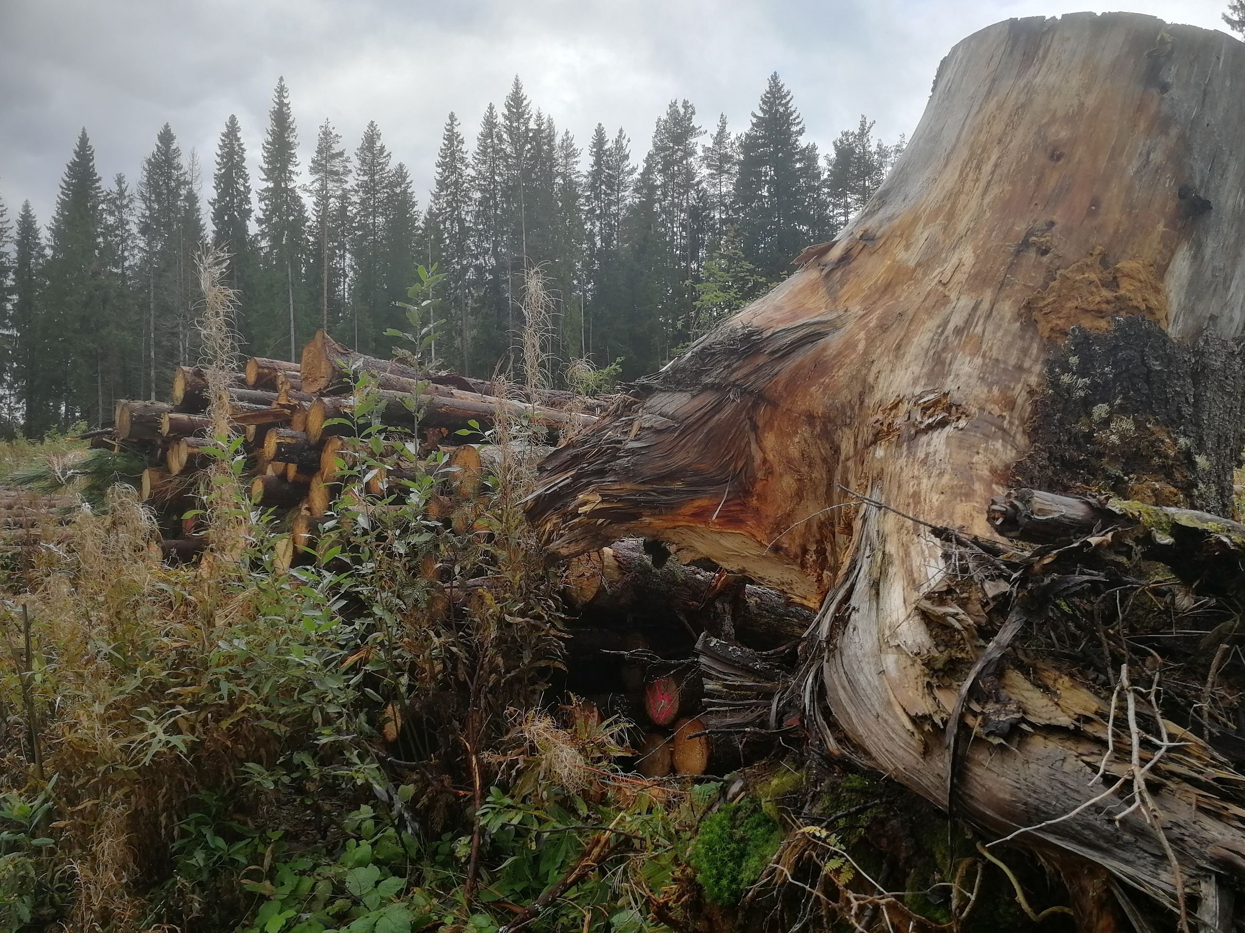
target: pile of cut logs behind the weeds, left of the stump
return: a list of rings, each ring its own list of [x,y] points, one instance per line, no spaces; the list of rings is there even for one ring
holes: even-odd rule
[[[220,384],[218,382],[217,384]],[[405,363],[352,351],[322,331],[304,347],[299,362],[251,357],[240,372],[223,378],[232,428],[244,438],[244,476],[251,500],[276,510],[290,529],[278,546],[278,561],[289,566],[314,545],[320,520],[331,513],[340,493],[337,471],[349,459],[355,428],[351,414],[366,386],[367,423],[382,437],[392,432],[392,464],[377,469],[367,491],[385,495],[403,476],[411,444],[421,454],[441,449],[447,455],[448,483],[435,508],[452,514],[454,500],[471,498],[493,452],[487,444],[456,443],[457,432],[486,439],[499,417],[523,419],[537,443],[555,444],[566,434],[596,420],[606,402],[558,389],[530,392],[522,387],[473,379],[451,372],[427,372]],[[173,561],[193,560],[205,547],[202,521],[183,519],[202,506],[213,452],[213,424],[208,414],[212,391],[202,367],[179,366],[173,372],[167,402],[116,403],[113,427],[95,432],[92,447],[138,453],[147,462],[142,499],[157,514],[161,550]],[[540,438],[539,434],[544,434]],[[382,459],[385,459],[382,457]]]

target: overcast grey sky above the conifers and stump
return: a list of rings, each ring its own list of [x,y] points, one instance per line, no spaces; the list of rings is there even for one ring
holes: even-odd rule
[[[100,173],[131,180],[172,123],[204,163],[242,121],[253,167],[279,75],[306,165],[332,121],[352,152],[375,119],[407,163],[421,208],[446,114],[468,147],[489,101],[519,75],[533,104],[583,147],[598,122],[632,156],[686,97],[712,128],[747,126],[778,71],[825,149],[859,114],[886,141],[910,133],[939,60],[1011,16],[1120,9],[1077,0],[0,0],[0,199],[30,199],[46,224],[80,127]],[[1128,0],[1128,9],[1224,29],[1226,0]]]

